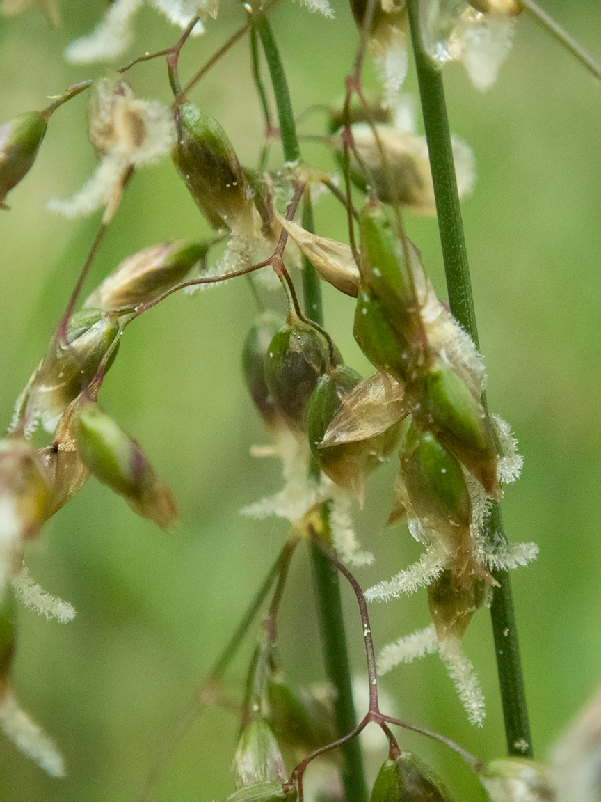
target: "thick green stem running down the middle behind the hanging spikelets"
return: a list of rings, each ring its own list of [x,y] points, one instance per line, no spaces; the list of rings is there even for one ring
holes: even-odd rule
[[[280,119],[280,136],[284,159],[297,161],[300,158],[300,148],[296,136],[296,124],[292,113],[292,103],[288,92],[288,82],[280,54],[273,38],[271,26],[267,18],[260,18],[254,22],[260,36],[261,44],[271,75],[273,94],[276,99],[277,115]],[[313,213],[310,202],[305,203],[304,221],[313,229]],[[305,290],[305,312],[318,325],[323,323],[321,306],[321,290],[313,265],[305,262],[303,269],[303,286]],[[317,465],[313,471],[319,470]],[[329,531],[328,506],[323,504],[321,516],[324,529]],[[326,674],[336,691],[335,715],[338,735],[341,737],[354,729],[357,723],[353,703],[353,687],[351,683],[349,654],[346,646],[345,621],[342,614],[342,600],[340,585],[336,569],[333,569],[329,560],[317,547],[311,546],[313,561],[313,575],[315,577],[317,605],[319,608],[321,641],[324,654]],[[345,787],[346,802],[365,802],[367,787],[365,772],[361,759],[361,747],[357,738],[349,740],[341,747],[344,756],[342,781]]]

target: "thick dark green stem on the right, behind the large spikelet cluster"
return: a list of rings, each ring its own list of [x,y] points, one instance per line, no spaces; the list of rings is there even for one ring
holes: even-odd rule
[[[426,140],[430,152],[430,167],[432,169],[450,310],[478,347],[478,329],[474,311],[474,298],[471,291],[470,267],[467,261],[466,241],[463,235],[442,76],[438,67],[435,66],[433,60],[427,54],[422,42],[418,0],[408,0],[407,10],[409,12],[409,26],[417,68],[417,81],[422,100]],[[482,401],[486,404],[486,398],[482,397]],[[490,516],[486,520],[484,534],[491,545],[506,543],[498,504],[494,504]],[[522,678],[514,606],[511,598],[510,578],[506,571],[495,572],[494,577],[501,587],[494,591],[494,601],[490,608],[490,615],[494,633],[507,747],[510,755],[531,756],[530,724],[528,722],[526,694]]]

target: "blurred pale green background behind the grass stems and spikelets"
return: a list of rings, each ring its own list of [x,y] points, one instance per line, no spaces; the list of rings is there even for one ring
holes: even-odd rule
[[[70,83],[103,75],[73,67],[64,47],[91,30],[101,0],[60,0],[64,24],[46,26],[30,9],[0,22],[2,121],[46,105]],[[597,50],[601,17],[588,0],[545,7],[585,47]],[[337,0],[327,21],[282,4],[272,25],[288,70],[296,112],[341,95],[357,34]],[[182,56],[192,75],[243,21],[223,2]],[[134,46],[119,63],[175,42],[177,32],[144,9]],[[460,65],[445,69],[451,129],[474,149],[478,179],[464,202],[464,220],[490,407],[507,419],[525,456],[522,479],[507,489],[502,510],[514,541],[537,541],[538,562],[513,574],[526,692],[536,755],[544,759],[601,678],[601,227],[599,226],[599,84],[526,14],[514,49],[486,94]],[[162,60],[129,74],[135,91],[167,102]],[[365,84],[374,86],[371,67]],[[415,93],[413,72],[405,91]],[[240,160],[254,164],[261,122],[249,75],[248,41],[209,71],[191,99],[220,119]],[[30,175],[2,212],[0,263],[0,406],[8,424],[14,399],[38,362],[67,303],[98,225],[46,212],[51,196],[75,192],[95,168],[87,143],[87,99],[54,115]],[[323,115],[302,126],[324,130]],[[333,169],[319,144],[303,146],[313,164]],[[280,160],[274,146],[272,166]],[[406,215],[438,294],[446,295],[436,223]],[[345,237],[334,201],[317,207],[318,230]],[[168,160],[145,168],[103,242],[87,282],[95,284],[123,257],[170,237],[207,233]],[[368,371],[353,342],[353,301],[325,288],[326,320],[345,359]],[[279,303],[279,296],[274,298]],[[54,737],[67,759],[65,780],[50,780],[0,742],[0,800],[134,802],[155,749],[192,689],[224,646],[260,577],[280,549],[280,520],[239,515],[245,504],[280,487],[275,460],[253,460],[252,444],[268,442],[240,376],[240,348],[254,306],[244,281],[192,298],[169,299],[127,330],[101,394],[103,407],[140,440],[178,500],[181,525],[165,535],[140,520],[119,497],[90,480],[30,545],[36,581],[78,610],[68,626],[19,610],[14,683],[23,707]],[[361,571],[363,587],[388,578],[420,552],[404,528],[383,530],[393,500],[395,460],[369,480],[357,515],[361,541],[377,554]],[[323,677],[309,566],[300,549],[281,611],[280,647],[300,681]],[[348,603],[349,643],[357,674],[365,673],[360,621]],[[429,620],[426,593],[373,606],[377,648]],[[464,642],[477,667],[488,716],[474,729],[438,658],[401,666],[381,680],[390,707],[442,731],[482,759],[505,751],[488,614]],[[252,638],[231,677],[244,674]],[[478,784],[444,747],[399,732],[445,776],[457,800],[482,800]],[[157,802],[227,796],[236,719],[208,711],[196,721],[162,773]],[[370,760],[385,758],[380,747]],[[290,766],[289,768],[292,768]],[[373,770],[370,769],[370,770]]]

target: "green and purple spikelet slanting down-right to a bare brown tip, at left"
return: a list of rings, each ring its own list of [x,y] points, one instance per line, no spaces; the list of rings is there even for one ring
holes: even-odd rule
[[[76,411],[77,450],[83,464],[103,484],[119,493],[139,516],[161,529],[175,525],[177,509],[139,443],[94,403]]]

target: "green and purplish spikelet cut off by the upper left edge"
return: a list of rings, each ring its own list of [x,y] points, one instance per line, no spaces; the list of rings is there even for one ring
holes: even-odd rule
[[[0,209],[9,209],[6,195],[30,171],[42,144],[48,116],[26,111],[0,126]]]

